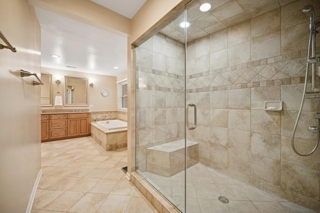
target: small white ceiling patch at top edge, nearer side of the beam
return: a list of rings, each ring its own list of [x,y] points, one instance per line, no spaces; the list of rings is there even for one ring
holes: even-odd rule
[[[125,17],[132,18],[146,0],[91,0]]]

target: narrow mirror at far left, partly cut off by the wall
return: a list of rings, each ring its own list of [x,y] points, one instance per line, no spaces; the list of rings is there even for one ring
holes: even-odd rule
[[[52,106],[52,74],[41,73],[41,106]]]

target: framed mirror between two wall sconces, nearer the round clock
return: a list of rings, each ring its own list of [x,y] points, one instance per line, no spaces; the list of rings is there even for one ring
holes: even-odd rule
[[[87,78],[64,76],[64,105],[88,105],[87,90]]]

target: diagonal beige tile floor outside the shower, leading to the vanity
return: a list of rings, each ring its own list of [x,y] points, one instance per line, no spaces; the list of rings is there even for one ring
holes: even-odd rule
[[[31,212],[157,212],[121,170],[126,153],[105,151],[90,136],[41,143]]]

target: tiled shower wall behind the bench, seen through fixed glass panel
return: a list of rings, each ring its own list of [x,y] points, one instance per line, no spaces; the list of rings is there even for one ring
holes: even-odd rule
[[[184,45],[156,34],[135,48],[136,168],[146,148],[184,138]]]

